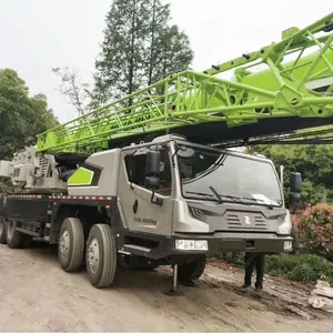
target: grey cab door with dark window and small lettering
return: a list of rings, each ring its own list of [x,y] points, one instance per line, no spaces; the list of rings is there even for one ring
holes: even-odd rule
[[[151,148],[153,149],[153,148]],[[119,202],[130,231],[171,235],[173,183],[171,157],[161,150],[160,186],[145,186],[147,152],[123,151],[119,172]]]

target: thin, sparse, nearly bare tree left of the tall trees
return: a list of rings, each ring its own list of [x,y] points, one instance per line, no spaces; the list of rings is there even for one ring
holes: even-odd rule
[[[81,81],[79,70],[65,65],[53,68],[52,71],[61,79],[58,87],[59,92],[77,109],[79,115],[84,114],[91,102],[91,92],[89,84]]]

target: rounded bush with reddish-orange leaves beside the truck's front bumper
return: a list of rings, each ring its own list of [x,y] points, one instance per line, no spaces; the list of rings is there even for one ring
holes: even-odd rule
[[[333,261],[333,205],[316,204],[293,215],[294,248]]]

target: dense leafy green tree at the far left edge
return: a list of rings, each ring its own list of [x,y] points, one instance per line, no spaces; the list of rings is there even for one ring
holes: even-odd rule
[[[59,122],[43,94],[29,97],[26,82],[12,69],[0,70],[0,160],[26,145]]]

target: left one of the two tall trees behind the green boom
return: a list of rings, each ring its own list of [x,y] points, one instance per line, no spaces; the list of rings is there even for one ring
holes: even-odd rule
[[[94,102],[132,93],[142,84],[144,21],[142,0],[115,0],[107,16],[102,51],[95,62]]]

